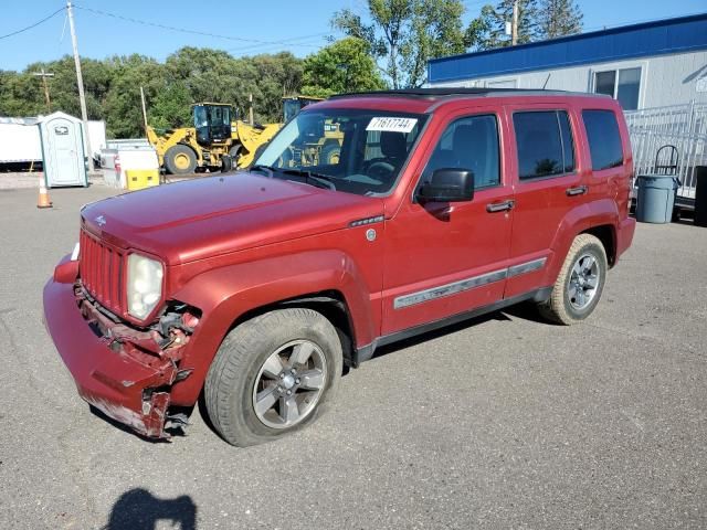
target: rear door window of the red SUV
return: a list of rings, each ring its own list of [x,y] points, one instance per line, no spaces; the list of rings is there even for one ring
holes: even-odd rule
[[[574,171],[574,145],[564,110],[515,113],[520,180]]]

